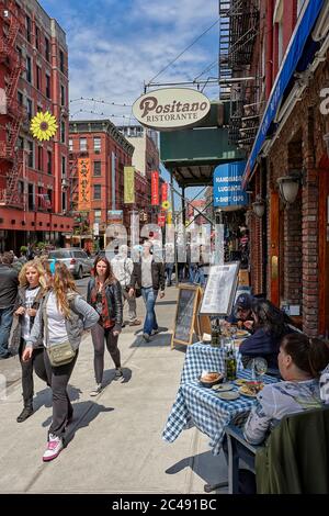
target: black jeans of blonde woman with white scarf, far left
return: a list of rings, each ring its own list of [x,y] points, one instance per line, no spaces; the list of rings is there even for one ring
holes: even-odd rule
[[[22,339],[20,345],[20,362],[22,368],[22,388],[24,406],[32,405],[34,394],[33,369],[41,380],[48,383],[47,371],[44,361],[44,348],[33,349],[30,360],[23,362],[22,355],[25,349],[25,341]]]

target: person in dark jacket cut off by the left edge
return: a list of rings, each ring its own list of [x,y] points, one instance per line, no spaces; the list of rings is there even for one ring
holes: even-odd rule
[[[3,253],[0,263],[0,359],[9,358],[8,341],[18,295],[18,272],[12,268],[13,257]]]

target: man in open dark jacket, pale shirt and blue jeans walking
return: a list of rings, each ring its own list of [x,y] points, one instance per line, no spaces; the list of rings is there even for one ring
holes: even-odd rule
[[[151,248],[151,243],[146,240],[143,245],[140,261],[134,262],[129,289],[129,295],[134,295],[136,285],[141,290],[146,306],[143,337],[147,343],[151,335],[159,333],[155,312],[159,290],[160,298],[164,296],[164,267],[162,262],[155,260],[150,253]]]

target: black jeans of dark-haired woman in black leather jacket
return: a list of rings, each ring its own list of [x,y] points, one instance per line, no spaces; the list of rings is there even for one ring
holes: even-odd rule
[[[102,383],[104,372],[104,352],[106,348],[116,368],[121,367],[117,338],[113,335],[113,328],[103,328],[99,323],[91,328],[92,344],[94,348],[93,367],[97,383]]]

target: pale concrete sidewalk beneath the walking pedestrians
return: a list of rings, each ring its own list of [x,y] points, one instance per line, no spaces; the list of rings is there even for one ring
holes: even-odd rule
[[[42,462],[52,419],[50,391],[36,379],[36,412],[18,424],[20,363],[18,358],[0,362],[0,373],[9,380],[8,397],[0,402],[0,493],[184,494],[204,493],[205,483],[225,481],[226,463],[222,456],[212,456],[207,436],[192,428],[171,445],[161,438],[185,352],[184,347],[170,349],[177,293],[175,288],[167,289],[166,298],[158,302],[158,323],[163,330],[150,343],[143,340],[141,327],[123,330],[120,349],[125,380],[113,381],[106,351],[106,388],[93,399],[89,396],[93,386],[90,335],[83,340],[70,380],[71,441],[50,463]],[[144,313],[139,299],[138,316]]]

